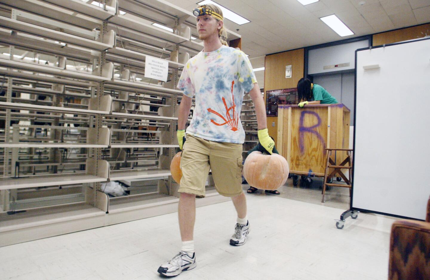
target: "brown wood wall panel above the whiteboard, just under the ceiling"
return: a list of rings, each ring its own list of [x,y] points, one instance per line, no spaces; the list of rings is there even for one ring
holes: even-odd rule
[[[384,44],[417,39],[418,37],[424,37],[423,34],[425,34],[426,32],[428,33],[428,30],[430,30],[430,23],[375,34],[373,35],[372,45],[379,46]]]

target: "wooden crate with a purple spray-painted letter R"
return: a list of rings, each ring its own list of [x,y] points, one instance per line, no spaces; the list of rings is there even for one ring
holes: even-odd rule
[[[324,176],[326,148],[348,149],[350,110],[344,104],[279,105],[278,146],[290,173]],[[336,164],[346,152],[332,155]]]

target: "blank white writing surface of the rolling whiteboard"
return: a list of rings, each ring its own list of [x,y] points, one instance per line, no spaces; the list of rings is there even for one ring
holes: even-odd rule
[[[430,40],[357,50],[355,104],[352,209],[425,219]]]

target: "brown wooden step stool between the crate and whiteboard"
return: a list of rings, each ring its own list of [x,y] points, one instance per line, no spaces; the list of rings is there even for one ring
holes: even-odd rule
[[[330,158],[333,151],[346,151],[347,158],[345,158],[344,161],[341,162],[341,164],[336,165],[336,163],[332,160],[332,158]],[[326,164],[326,172],[324,173],[324,184],[322,185],[322,200],[321,200],[322,203],[324,203],[324,195],[326,195],[326,186],[349,188],[350,196],[351,196],[351,172],[352,172],[351,152],[352,151],[353,151],[352,149],[326,149],[327,164]],[[349,166],[346,164],[349,164]],[[334,169],[331,173],[329,173],[330,168]],[[348,173],[349,173],[348,178],[342,172],[342,169],[348,169]],[[336,174],[338,174],[347,184],[343,185],[343,184],[327,183],[327,181],[329,181],[333,177],[336,177]]]

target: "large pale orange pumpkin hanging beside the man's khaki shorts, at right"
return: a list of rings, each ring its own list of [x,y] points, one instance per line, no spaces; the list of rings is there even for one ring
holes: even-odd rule
[[[286,159],[278,154],[263,155],[254,151],[243,165],[243,177],[249,186],[273,191],[285,184],[289,167]]]

